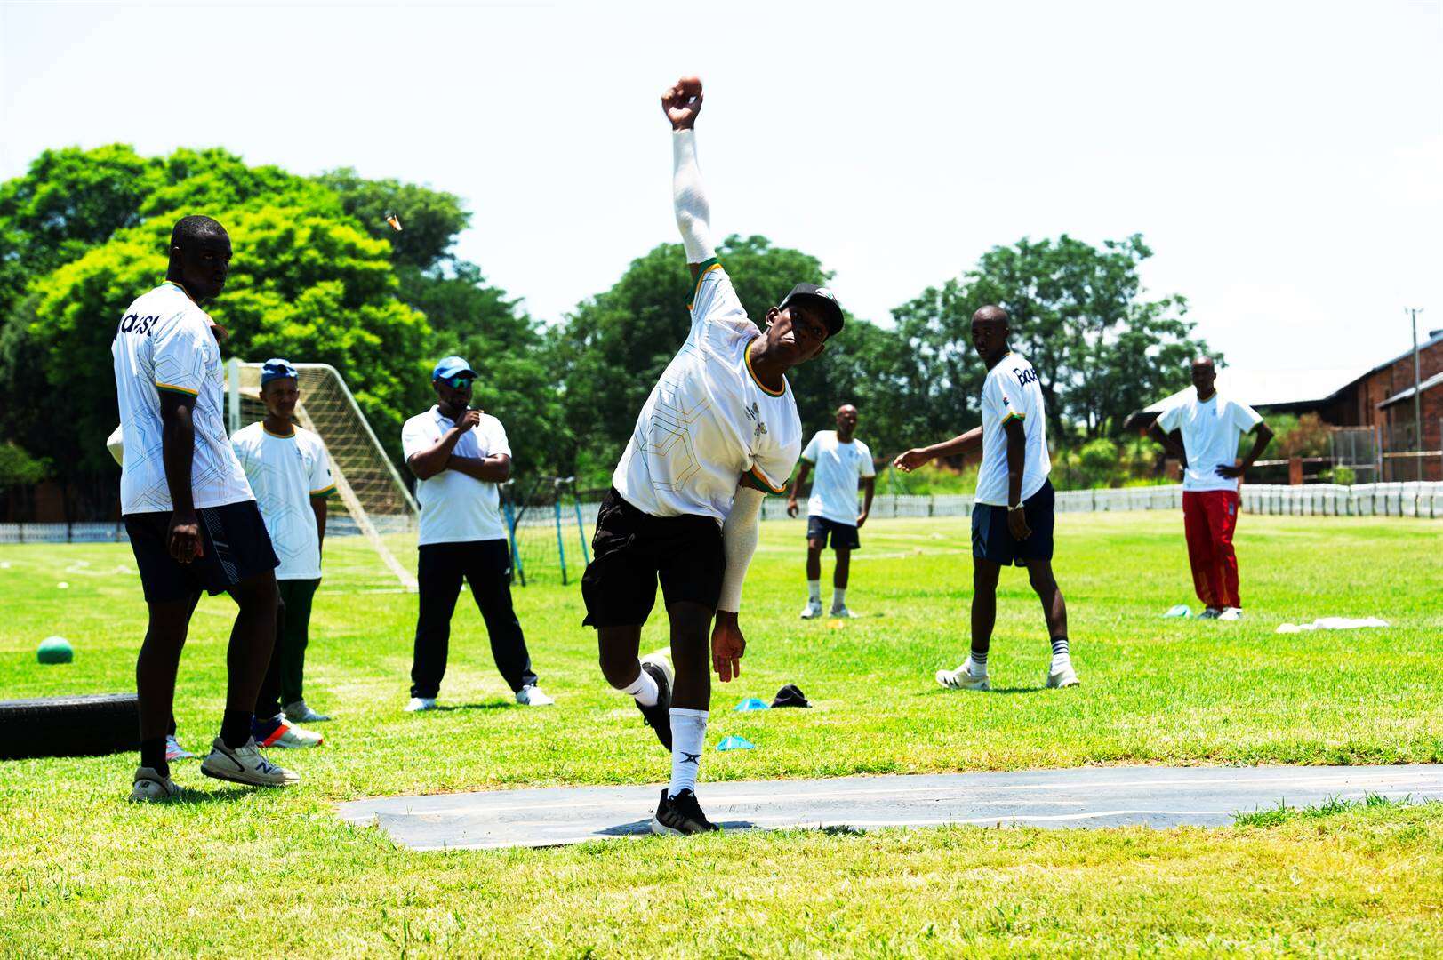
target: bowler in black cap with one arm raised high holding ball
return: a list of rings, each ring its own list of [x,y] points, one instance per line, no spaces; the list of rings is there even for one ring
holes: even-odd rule
[[[711,704],[707,632],[722,681],[740,676],[746,641],[737,611],[762,497],[785,489],[801,450],[785,374],[817,357],[843,316],[831,292],[798,284],[766,312],[766,332],[756,329],[711,245],[693,133],[701,81],[680,79],[661,105],[672,128],[677,225],[696,280],[691,331],[612,474],[582,595],[608,683],[635,697],[671,751],[671,782],[651,829],[684,834],[717,829],[696,797]],[[638,660],[658,580],[674,674],[661,657]]]

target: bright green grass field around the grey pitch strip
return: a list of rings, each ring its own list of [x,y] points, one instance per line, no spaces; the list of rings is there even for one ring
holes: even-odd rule
[[[1040,611],[1004,573],[999,689],[938,689],[965,655],[965,520],[874,521],[846,624],[802,622],[802,524],[769,523],[746,593],[740,681],[714,687],[706,782],[1071,767],[1443,761],[1443,525],[1244,517],[1238,624],[1192,602],[1175,514],[1063,514],[1058,579],[1084,686],[1042,690]],[[410,556],[403,554],[410,559]],[[126,546],[0,547],[6,697],[131,690],[144,628]],[[574,586],[517,589],[556,707],[511,703],[475,606],[442,702],[404,715],[416,598],[359,541],[328,544],[307,700],[326,745],[277,756],[299,788],[173,768],[185,801],[127,803],[136,758],[0,762],[0,943],[10,956],[957,956],[1443,953],[1443,804],[1336,806],[1219,830],[745,833],[550,850],[410,853],[333,804],[482,787],[661,782],[668,758],[602,681]],[[830,576],[830,564],[824,567]],[[58,589],[68,582],[68,589]],[[215,735],[225,598],[196,612],[182,742]],[[1277,635],[1380,615],[1387,631]],[[76,648],[42,667],[49,634]],[[661,624],[644,642],[664,645]],[[794,681],[812,710],[730,713]],[[638,811],[642,816],[646,811]]]

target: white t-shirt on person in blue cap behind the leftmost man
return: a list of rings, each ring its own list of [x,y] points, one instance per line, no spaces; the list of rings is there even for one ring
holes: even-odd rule
[[[296,427],[290,436],[277,436],[266,424],[253,423],[235,432],[231,446],[280,557],[276,579],[319,580],[320,536],[310,498],[336,491],[326,445],[310,430]]]

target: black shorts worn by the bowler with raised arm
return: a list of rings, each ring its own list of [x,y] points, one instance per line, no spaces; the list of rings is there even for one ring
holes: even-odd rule
[[[657,603],[657,580],[667,606],[685,601],[716,609],[723,573],[722,524],[701,515],[652,517],[613,486],[596,515],[592,563],[582,575],[582,624],[645,624]]]

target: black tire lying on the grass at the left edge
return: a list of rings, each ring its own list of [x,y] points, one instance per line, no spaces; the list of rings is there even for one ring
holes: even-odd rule
[[[134,693],[0,700],[0,759],[139,749],[140,700]]]

